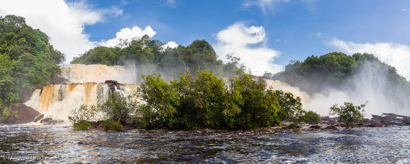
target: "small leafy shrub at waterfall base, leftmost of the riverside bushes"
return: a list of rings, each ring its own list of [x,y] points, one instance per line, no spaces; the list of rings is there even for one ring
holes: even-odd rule
[[[87,130],[91,128],[89,121],[96,119],[97,112],[95,106],[82,104],[80,108],[75,108],[69,112],[68,120],[73,124],[74,129]]]

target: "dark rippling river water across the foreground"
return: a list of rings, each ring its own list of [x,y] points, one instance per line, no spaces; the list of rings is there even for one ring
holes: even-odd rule
[[[45,159],[46,158],[46,159]],[[410,163],[410,126],[333,131],[0,127],[2,163]]]

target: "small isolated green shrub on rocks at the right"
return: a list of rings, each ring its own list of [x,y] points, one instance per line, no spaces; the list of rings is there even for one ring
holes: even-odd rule
[[[369,101],[361,104],[360,106],[354,106],[353,103],[344,102],[344,106],[334,104],[330,107],[329,115],[338,115],[339,119],[342,119],[346,123],[346,129],[350,128],[353,121],[364,120],[364,107]]]

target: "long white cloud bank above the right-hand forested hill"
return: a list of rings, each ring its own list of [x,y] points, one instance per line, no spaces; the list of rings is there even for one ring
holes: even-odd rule
[[[351,55],[354,53],[371,53],[380,61],[396,67],[397,71],[406,79],[410,79],[410,47],[408,45],[394,43],[353,43],[334,38],[328,42],[329,47]]]

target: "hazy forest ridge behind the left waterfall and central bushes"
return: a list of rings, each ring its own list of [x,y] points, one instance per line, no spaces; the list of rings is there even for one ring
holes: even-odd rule
[[[74,57],[71,64],[137,65],[137,73],[159,72],[165,79],[174,79],[180,72],[189,70],[212,70],[216,76],[225,77],[245,70],[239,64],[240,58],[227,54],[230,62],[218,60],[212,46],[205,40],[195,40],[187,47],[164,47],[159,40],[151,40],[148,35],[132,40],[119,39],[115,47],[95,47]]]

